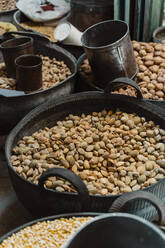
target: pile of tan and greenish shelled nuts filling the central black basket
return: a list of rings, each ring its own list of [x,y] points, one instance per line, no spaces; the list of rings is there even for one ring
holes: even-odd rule
[[[11,164],[35,184],[47,169],[61,167],[79,175],[90,194],[131,192],[164,178],[165,131],[120,110],[70,114],[52,128],[23,137],[13,149]],[[61,178],[50,177],[45,186],[75,192]]]

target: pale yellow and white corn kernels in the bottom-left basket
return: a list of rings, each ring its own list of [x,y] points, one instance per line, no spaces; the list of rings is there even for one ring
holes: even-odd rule
[[[84,216],[38,222],[3,240],[0,248],[61,248],[73,233],[90,220],[92,217]]]

